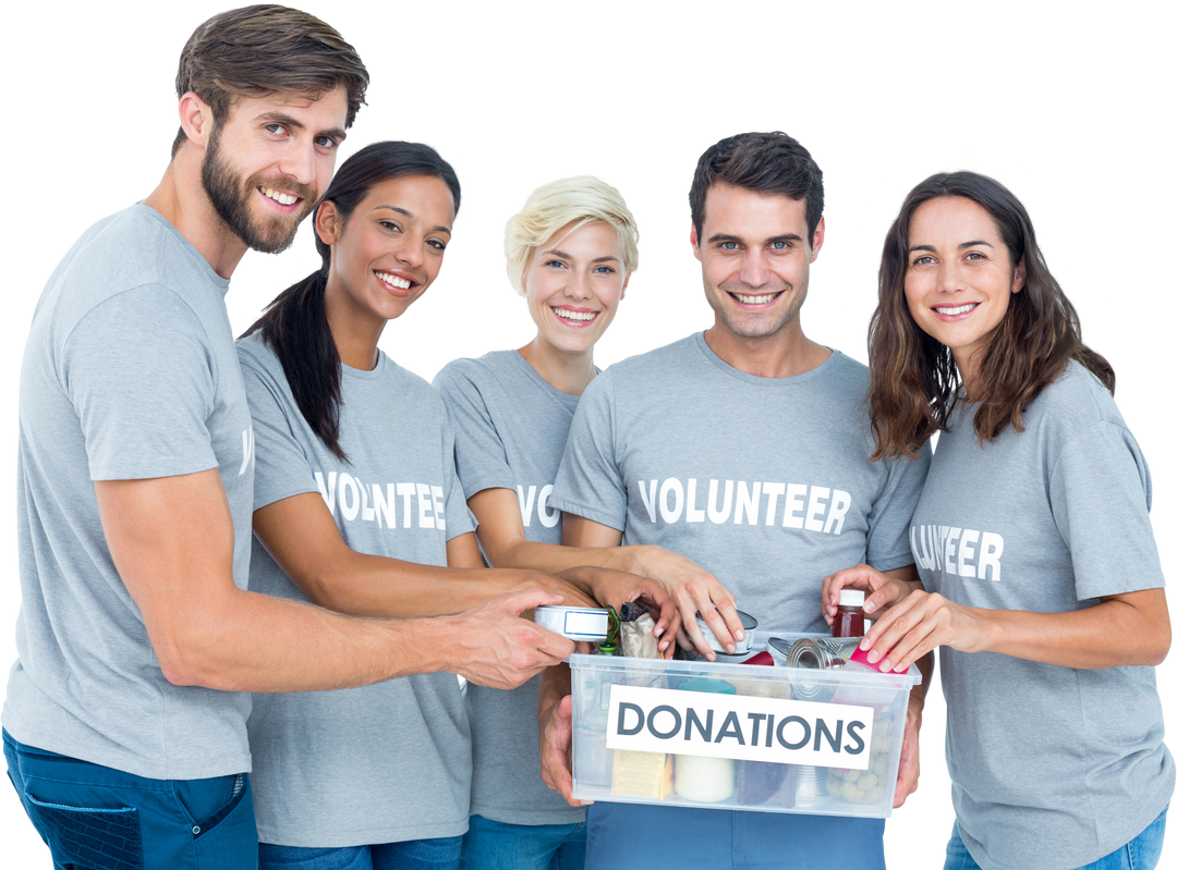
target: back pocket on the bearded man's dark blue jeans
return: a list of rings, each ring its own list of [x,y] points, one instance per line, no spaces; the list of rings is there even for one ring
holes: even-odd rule
[[[48,841],[54,865],[142,870],[139,811],[133,807],[64,807],[38,801],[32,794],[26,797],[29,821]]]

